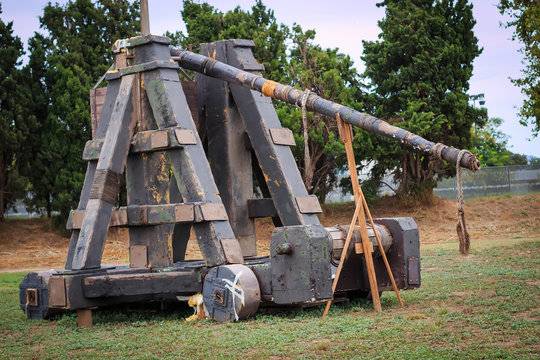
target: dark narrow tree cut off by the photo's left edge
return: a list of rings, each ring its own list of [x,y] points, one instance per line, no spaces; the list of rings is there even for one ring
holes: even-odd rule
[[[18,68],[23,53],[21,40],[13,35],[13,22],[0,19],[0,221],[13,201],[24,193],[25,186],[18,159],[29,125],[24,116],[25,94]]]

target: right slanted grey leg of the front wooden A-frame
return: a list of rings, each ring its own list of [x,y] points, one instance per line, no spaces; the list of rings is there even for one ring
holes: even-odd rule
[[[189,129],[197,139],[197,144],[167,152],[182,198],[186,202],[222,204],[178,74],[175,70],[159,69],[146,72],[143,76],[158,127]],[[197,223],[194,229],[207,265],[243,262],[240,245],[229,221]]]

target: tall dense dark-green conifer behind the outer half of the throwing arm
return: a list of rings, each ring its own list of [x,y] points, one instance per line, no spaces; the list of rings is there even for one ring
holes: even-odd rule
[[[377,41],[365,41],[364,76],[373,91],[371,112],[435,142],[459,148],[471,143],[471,126],[486,120],[485,109],[469,105],[473,60],[481,53],[474,36],[472,5],[465,0],[387,0]],[[376,140],[372,154],[378,176],[392,171],[398,192],[431,195],[444,165],[399,144]]]

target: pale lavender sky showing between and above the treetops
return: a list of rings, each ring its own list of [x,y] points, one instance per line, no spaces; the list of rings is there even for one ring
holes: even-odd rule
[[[38,17],[47,0],[0,0],[4,21],[14,21],[14,31],[23,41],[39,29]],[[58,1],[60,3],[65,0]],[[235,6],[249,9],[254,0],[207,0],[216,8],[227,11]],[[384,8],[372,0],[264,0],[274,10],[279,22],[300,24],[304,29],[317,32],[316,41],[323,47],[339,48],[349,54],[359,71],[364,64],[360,59],[362,40],[376,40],[380,32],[377,22],[384,17]],[[531,139],[531,128],[521,126],[517,116],[523,101],[520,89],[510,78],[517,78],[523,67],[520,44],[512,41],[512,29],[500,26],[506,20],[499,14],[497,0],[476,0],[474,28],[482,54],[474,62],[474,74],[469,94],[485,94],[488,115],[504,120],[501,131],[510,137],[510,150],[540,156],[540,137]],[[150,29],[154,34],[165,31],[185,31],[180,10],[181,0],[149,0]]]

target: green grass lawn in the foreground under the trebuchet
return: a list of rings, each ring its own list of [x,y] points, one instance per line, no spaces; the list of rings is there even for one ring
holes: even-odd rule
[[[380,358],[540,357],[540,239],[422,248],[422,287],[384,293],[383,313],[355,302],[260,313],[231,324],[186,323],[189,309],[100,310],[94,327],[74,315],[29,321],[17,305],[23,274],[0,274],[0,358]]]

